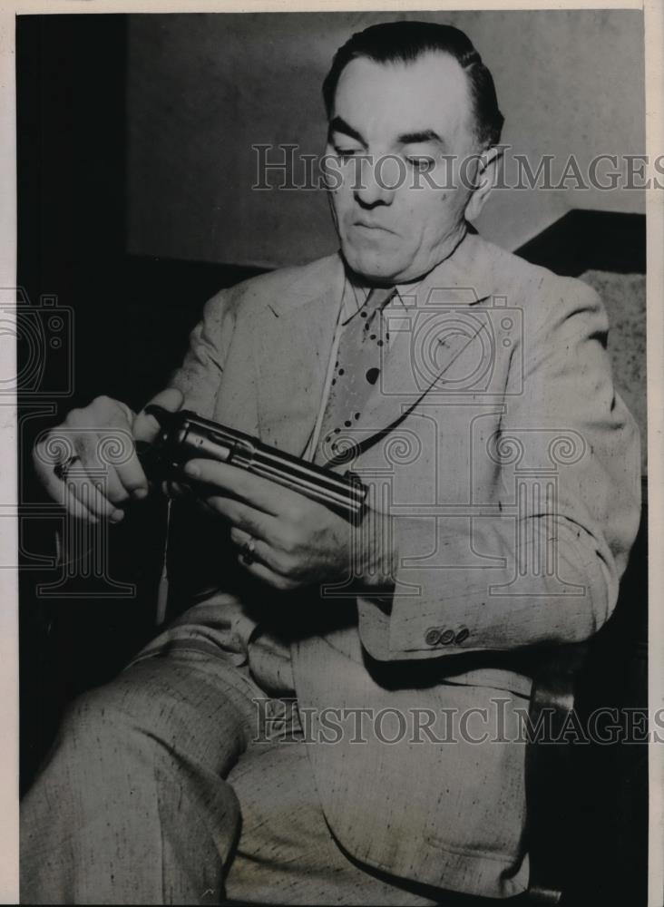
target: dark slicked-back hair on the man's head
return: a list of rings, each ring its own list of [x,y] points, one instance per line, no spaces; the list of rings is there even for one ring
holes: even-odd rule
[[[480,143],[496,145],[501,139],[503,114],[498,108],[493,77],[466,35],[453,25],[433,22],[386,22],[356,32],[335,54],[323,83],[327,119],[332,114],[339,76],[351,60],[365,57],[376,63],[413,63],[422,54],[450,54],[468,76],[473,98],[475,131]]]

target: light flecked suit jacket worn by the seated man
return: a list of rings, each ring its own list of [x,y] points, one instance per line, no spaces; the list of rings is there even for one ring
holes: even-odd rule
[[[210,299],[173,378],[185,405],[302,453],[344,280],[334,255]],[[638,432],[601,302],[578,280],[469,235],[384,316],[380,380],[349,431],[364,442],[352,468],[391,515],[395,594],[327,590],[327,608],[356,598],[359,632],[293,643],[298,702],[348,853],[510,896],[528,881],[524,746],[510,742],[530,691],[522,652],[610,616],[639,522]],[[358,707],[373,710],[365,742],[357,713],[344,725]]]

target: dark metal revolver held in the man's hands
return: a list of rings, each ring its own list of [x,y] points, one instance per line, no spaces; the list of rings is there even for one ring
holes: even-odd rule
[[[190,410],[169,413],[161,406],[148,405],[145,413],[154,416],[160,432],[152,444],[139,442],[137,453],[148,478],[189,482],[182,469],[189,460],[206,458],[230,463],[249,473],[325,504],[349,521],[360,520],[368,489],[356,473],[343,475],[323,466],[307,463],[290,453],[263,444],[250,434],[203,419]]]

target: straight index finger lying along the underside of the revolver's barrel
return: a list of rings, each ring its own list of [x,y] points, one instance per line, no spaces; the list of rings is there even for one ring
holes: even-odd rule
[[[190,460],[184,471],[192,478],[228,491],[234,497],[272,516],[288,513],[297,518],[296,514],[301,511],[303,502],[307,502],[301,494],[291,492],[290,489],[245,469],[230,466],[229,463]]]

